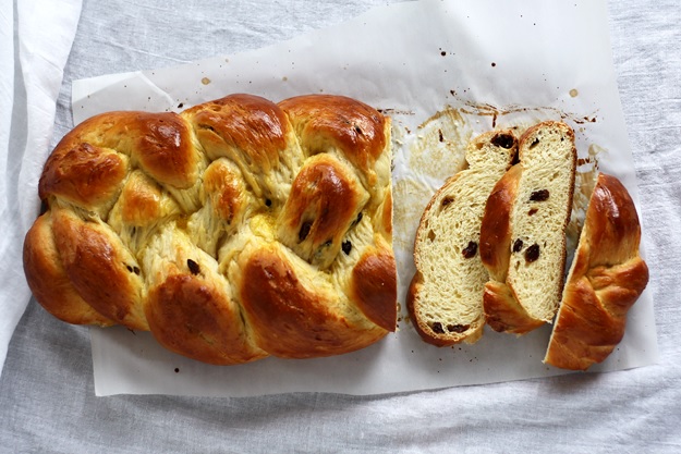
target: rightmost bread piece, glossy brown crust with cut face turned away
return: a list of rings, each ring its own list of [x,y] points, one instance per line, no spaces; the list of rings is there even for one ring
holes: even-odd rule
[[[619,344],[627,312],[648,282],[640,242],[639,216],[627,188],[600,173],[545,363],[586,370]]]

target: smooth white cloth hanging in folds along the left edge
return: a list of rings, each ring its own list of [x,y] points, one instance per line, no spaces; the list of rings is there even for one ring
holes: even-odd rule
[[[49,154],[57,97],[80,15],[81,0],[0,2],[0,373],[31,298],[21,257],[24,235],[38,211],[39,165],[32,163],[45,162]]]

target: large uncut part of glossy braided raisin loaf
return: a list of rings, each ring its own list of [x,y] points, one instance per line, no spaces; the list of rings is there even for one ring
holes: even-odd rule
[[[104,113],[45,165],[26,278],[205,363],[363,348],[396,329],[390,165],[390,119],[345,97]]]

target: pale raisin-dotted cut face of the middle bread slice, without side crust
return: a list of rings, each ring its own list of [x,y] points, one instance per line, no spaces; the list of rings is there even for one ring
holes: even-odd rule
[[[534,131],[524,144],[520,150],[523,172],[511,213],[508,282],[530,316],[550,321],[562,290],[574,145],[555,123]]]

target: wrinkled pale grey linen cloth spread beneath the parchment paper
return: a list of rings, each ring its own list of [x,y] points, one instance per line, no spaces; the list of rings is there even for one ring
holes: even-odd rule
[[[11,2],[3,2],[2,23],[8,21],[5,3]],[[73,126],[74,79],[255,49],[385,3],[84,0],[51,145]],[[681,289],[674,279],[681,267],[677,3],[609,2],[616,72],[639,176],[658,365],[369,397],[98,398],[87,329],[65,326],[32,302],[0,376],[0,452],[681,451],[681,346],[676,336]],[[16,10],[14,4],[15,25]],[[14,46],[16,52],[16,37]],[[14,86],[8,89],[24,106],[14,107],[13,127],[14,120],[26,121],[28,111],[26,78],[15,64]],[[2,109],[5,114],[7,107]],[[5,118],[0,120],[4,130]],[[13,279],[20,278],[16,273]]]

